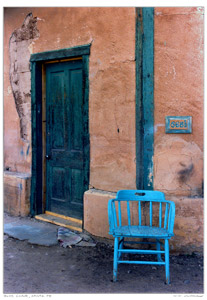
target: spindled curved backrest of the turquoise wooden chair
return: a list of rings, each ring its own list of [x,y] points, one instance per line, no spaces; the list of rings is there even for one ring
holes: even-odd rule
[[[117,226],[156,226],[173,234],[175,204],[164,193],[148,190],[120,190],[108,206],[110,231]]]

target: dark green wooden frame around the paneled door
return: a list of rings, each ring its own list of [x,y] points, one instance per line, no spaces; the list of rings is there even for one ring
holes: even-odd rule
[[[89,137],[89,55],[91,44],[46,51],[31,55],[31,130],[32,130],[32,178],[30,214],[44,212],[43,207],[43,143],[42,143],[42,77],[43,66],[49,61],[82,57],[83,64],[83,118],[84,118],[84,182],[89,184],[90,137]]]

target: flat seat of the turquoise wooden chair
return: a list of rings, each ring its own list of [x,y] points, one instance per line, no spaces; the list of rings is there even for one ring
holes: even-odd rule
[[[145,238],[168,238],[172,234],[164,228],[150,226],[119,226],[114,229],[114,236],[145,237]]]

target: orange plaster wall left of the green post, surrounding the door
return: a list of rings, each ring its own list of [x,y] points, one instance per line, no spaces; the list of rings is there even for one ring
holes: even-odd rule
[[[30,172],[12,94],[8,43],[26,15],[38,18],[31,53],[91,43],[89,63],[90,184],[116,191],[135,188],[135,9],[8,8],[5,10],[5,166]],[[119,129],[119,133],[118,133]],[[26,147],[26,146],[25,146]]]

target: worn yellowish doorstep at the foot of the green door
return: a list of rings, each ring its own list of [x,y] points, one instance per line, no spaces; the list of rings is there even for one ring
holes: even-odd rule
[[[74,231],[82,232],[82,221],[67,216],[58,215],[52,212],[46,211],[45,214],[36,215],[35,219],[49,222],[58,226],[67,227]]]

